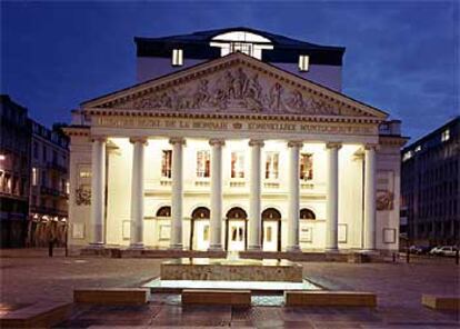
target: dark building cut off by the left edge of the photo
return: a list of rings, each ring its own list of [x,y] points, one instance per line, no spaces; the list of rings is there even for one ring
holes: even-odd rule
[[[22,247],[29,216],[30,123],[28,110],[0,96],[0,227],[2,248]]]

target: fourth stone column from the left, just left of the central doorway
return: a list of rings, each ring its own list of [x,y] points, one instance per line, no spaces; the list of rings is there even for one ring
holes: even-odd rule
[[[211,139],[211,239],[209,250],[222,250],[222,147],[224,140]]]

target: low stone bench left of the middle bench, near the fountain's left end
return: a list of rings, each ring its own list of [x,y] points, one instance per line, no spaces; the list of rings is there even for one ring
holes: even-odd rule
[[[73,290],[73,301],[100,305],[142,305],[150,299],[148,288],[83,288]]]

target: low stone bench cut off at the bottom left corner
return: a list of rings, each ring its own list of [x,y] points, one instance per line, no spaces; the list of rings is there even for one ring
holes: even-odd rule
[[[67,319],[71,303],[44,301],[3,312],[0,328],[50,328]]]

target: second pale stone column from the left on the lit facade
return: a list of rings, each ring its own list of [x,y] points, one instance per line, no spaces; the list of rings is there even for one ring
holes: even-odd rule
[[[143,248],[143,148],[146,138],[131,138],[132,179],[131,179],[131,231],[130,248]]]

